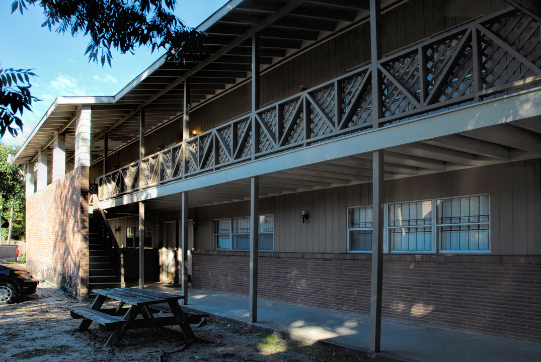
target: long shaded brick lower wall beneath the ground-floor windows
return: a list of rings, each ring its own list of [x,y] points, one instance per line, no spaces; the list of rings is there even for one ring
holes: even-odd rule
[[[247,252],[194,251],[192,284],[248,294]],[[259,297],[370,313],[370,254],[260,253]],[[383,316],[541,341],[541,257],[385,255]]]

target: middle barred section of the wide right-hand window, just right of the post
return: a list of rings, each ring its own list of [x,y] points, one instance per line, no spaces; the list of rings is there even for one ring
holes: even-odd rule
[[[432,202],[417,201],[388,205],[390,251],[432,251]]]

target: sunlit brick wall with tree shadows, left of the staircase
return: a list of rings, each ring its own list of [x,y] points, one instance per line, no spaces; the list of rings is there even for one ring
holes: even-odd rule
[[[27,198],[27,265],[82,297],[88,286],[88,167],[79,167]]]

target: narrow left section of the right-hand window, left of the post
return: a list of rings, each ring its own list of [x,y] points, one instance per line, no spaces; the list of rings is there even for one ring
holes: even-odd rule
[[[372,251],[372,206],[347,209],[348,251]]]

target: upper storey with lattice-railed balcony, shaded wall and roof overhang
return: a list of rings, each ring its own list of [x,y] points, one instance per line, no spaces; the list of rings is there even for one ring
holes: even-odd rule
[[[90,165],[112,207],[201,187],[194,205],[246,199],[256,175],[262,196],[370,182],[379,149],[386,179],[540,157],[537,13],[382,0],[373,64],[369,3],[231,0],[197,28],[207,55],[162,57],[112,97],[58,98],[16,162],[38,161],[37,190]]]

